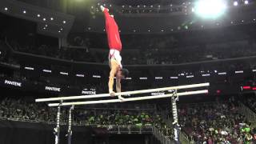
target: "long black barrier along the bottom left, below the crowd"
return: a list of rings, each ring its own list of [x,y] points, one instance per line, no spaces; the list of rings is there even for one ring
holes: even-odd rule
[[[0,144],[54,144],[55,125],[0,120]],[[61,127],[60,144],[67,144],[67,126]],[[160,144],[152,134],[109,134],[104,128],[72,127],[72,144]]]

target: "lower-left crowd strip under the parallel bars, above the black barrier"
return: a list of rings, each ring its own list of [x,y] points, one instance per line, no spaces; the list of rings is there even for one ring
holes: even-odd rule
[[[0,117],[18,121],[56,122],[57,109],[50,108],[42,103],[30,102],[25,99],[4,98],[0,103]],[[68,110],[62,109],[61,122],[67,122]],[[86,122],[87,125],[133,125],[156,126],[163,134],[173,134],[166,126],[160,115],[151,110],[114,110],[114,109],[84,109],[74,110],[74,124]]]

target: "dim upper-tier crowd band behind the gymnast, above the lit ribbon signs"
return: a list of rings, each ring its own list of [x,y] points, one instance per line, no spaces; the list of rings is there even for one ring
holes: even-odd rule
[[[83,43],[81,37],[76,39]],[[130,41],[133,42],[132,37]],[[138,39],[136,39],[136,41],[138,41]],[[209,42],[203,45],[198,44],[189,46],[176,46],[175,43],[177,40],[167,36],[163,36],[162,38],[142,38],[140,41],[142,41],[140,43],[145,42],[146,46],[137,48],[129,47],[130,42],[127,42],[128,47],[122,50],[122,62],[124,64],[180,64],[186,62],[202,62],[208,60],[241,58],[256,55],[256,42],[249,42],[248,40],[218,43]],[[79,62],[106,63],[105,61],[107,60],[108,54],[105,47],[97,47],[98,43],[90,44],[88,39],[86,39],[86,45],[76,44],[74,46],[61,47],[60,49],[56,46],[54,47],[46,45],[39,47],[19,46],[15,41],[10,41],[10,45],[13,46],[14,50],[25,53],[39,54]],[[130,50],[134,51],[131,53]]]

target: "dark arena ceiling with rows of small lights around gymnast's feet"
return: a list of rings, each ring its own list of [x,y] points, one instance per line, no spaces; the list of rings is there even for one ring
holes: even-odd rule
[[[256,22],[254,0],[228,0],[220,18],[204,19],[194,14],[189,0],[18,0],[74,16],[70,33],[105,33],[99,6],[114,14],[121,34],[165,34],[212,29]],[[235,2],[236,5],[235,5]],[[246,3],[247,2],[247,3]]]

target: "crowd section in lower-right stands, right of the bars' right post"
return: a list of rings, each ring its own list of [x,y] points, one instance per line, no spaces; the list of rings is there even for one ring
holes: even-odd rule
[[[250,143],[252,131],[236,102],[212,102],[180,107],[180,124],[198,143]]]

